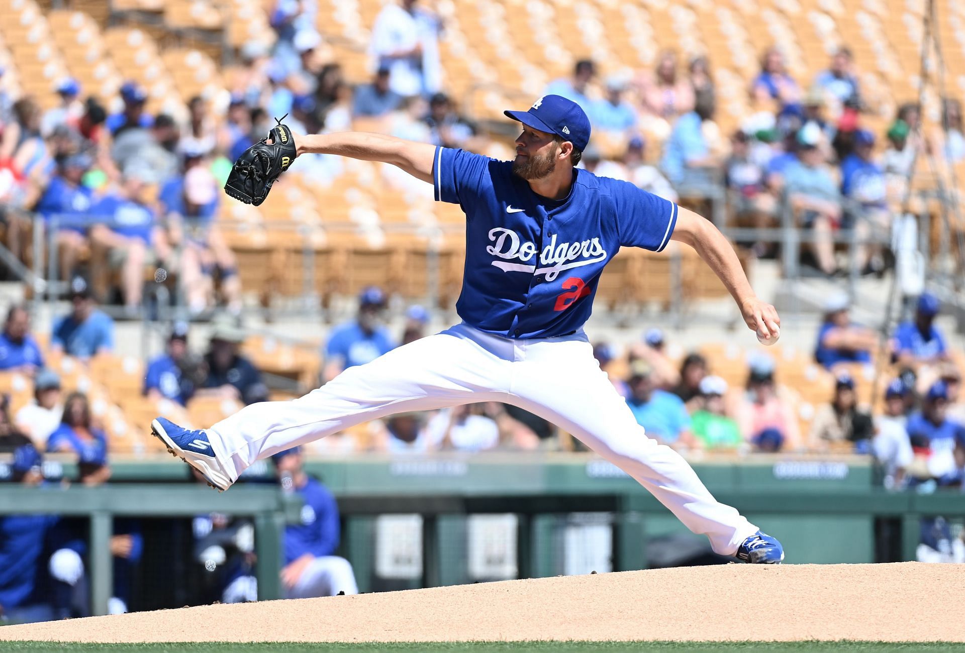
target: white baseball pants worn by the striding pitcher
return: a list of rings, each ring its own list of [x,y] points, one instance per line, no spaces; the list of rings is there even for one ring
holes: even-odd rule
[[[208,429],[236,480],[256,460],[394,413],[510,403],[564,428],[646,487],[713,550],[731,556],[758,529],[717,503],[690,465],[650,440],[607,379],[582,331],[511,340],[459,324],[416,340],[287,402],[246,406]]]

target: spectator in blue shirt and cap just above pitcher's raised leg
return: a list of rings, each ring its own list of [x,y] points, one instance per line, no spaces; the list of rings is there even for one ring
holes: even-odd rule
[[[324,380],[331,381],[348,367],[364,365],[387,351],[396,343],[382,325],[385,312],[385,293],[368,287],[359,295],[358,316],[351,322],[336,327],[325,347]]]

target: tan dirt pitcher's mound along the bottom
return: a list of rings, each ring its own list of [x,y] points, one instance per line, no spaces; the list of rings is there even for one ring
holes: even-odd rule
[[[61,641],[965,641],[965,565],[730,564],[0,628]]]

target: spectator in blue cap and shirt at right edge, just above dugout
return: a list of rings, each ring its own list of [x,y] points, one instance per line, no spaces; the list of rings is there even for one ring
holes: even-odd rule
[[[935,381],[924,395],[922,410],[908,418],[908,438],[918,459],[909,470],[914,484],[924,480],[939,485],[961,482],[965,426],[948,418],[949,399],[945,382]]]

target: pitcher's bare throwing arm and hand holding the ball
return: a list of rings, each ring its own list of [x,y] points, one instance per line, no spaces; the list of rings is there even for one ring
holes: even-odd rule
[[[771,340],[780,333],[781,318],[778,312],[754,293],[731,243],[713,223],[691,210],[679,207],[671,237],[697,250],[714,274],[724,282],[740,307],[748,328],[757,331],[759,338]]]

